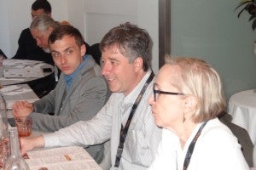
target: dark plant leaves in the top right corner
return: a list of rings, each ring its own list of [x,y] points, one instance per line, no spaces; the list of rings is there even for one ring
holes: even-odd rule
[[[238,18],[244,11],[247,11],[247,13],[251,15],[248,21],[253,21],[252,28],[254,31],[256,28],[256,0],[242,0],[241,3],[238,3],[235,10],[238,8],[241,8],[240,12],[237,14]]]

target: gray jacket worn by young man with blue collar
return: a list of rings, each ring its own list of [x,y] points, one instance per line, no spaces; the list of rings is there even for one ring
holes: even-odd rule
[[[102,77],[100,66],[88,56],[67,94],[66,82],[61,73],[55,89],[33,103],[35,112],[31,114],[32,127],[54,132],[74,122],[90,120],[106,103],[108,96],[108,84]],[[50,116],[49,113],[54,115]]]

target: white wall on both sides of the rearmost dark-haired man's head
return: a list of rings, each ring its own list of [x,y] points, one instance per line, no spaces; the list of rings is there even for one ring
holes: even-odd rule
[[[30,26],[33,2],[34,0],[0,1],[0,48],[9,58],[16,53],[20,32]],[[67,20],[67,0],[49,0],[49,3],[55,20]]]

